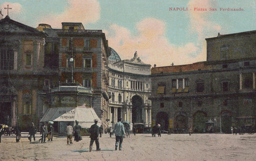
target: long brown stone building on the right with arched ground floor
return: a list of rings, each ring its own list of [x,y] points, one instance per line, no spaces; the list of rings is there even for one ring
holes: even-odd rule
[[[255,129],[256,31],[206,41],[207,61],[151,69],[152,122],[174,132]]]

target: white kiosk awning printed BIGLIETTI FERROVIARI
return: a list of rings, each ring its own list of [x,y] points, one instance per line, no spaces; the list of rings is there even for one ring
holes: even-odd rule
[[[94,119],[99,120],[100,126],[100,119],[90,107],[53,107],[47,110],[40,122],[77,120],[82,128],[90,128],[94,124]]]

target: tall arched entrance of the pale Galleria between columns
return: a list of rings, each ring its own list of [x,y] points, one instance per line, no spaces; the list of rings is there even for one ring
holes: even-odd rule
[[[143,109],[143,100],[138,95],[132,97],[132,122],[133,123],[143,123],[142,109]]]

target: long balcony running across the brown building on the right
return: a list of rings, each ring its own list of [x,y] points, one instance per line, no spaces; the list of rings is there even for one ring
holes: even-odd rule
[[[239,90],[227,92],[190,92],[190,93],[176,93],[176,94],[154,94],[149,99],[159,98],[179,98],[179,97],[207,97],[207,96],[227,96],[227,95],[243,95],[243,94],[256,94],[256,90]]]

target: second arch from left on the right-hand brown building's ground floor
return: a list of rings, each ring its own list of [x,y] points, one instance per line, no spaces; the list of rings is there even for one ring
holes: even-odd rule
[[[185,113],[179,113],[175,117],[174,132],[184,133],[187,131],[187,115]]]

